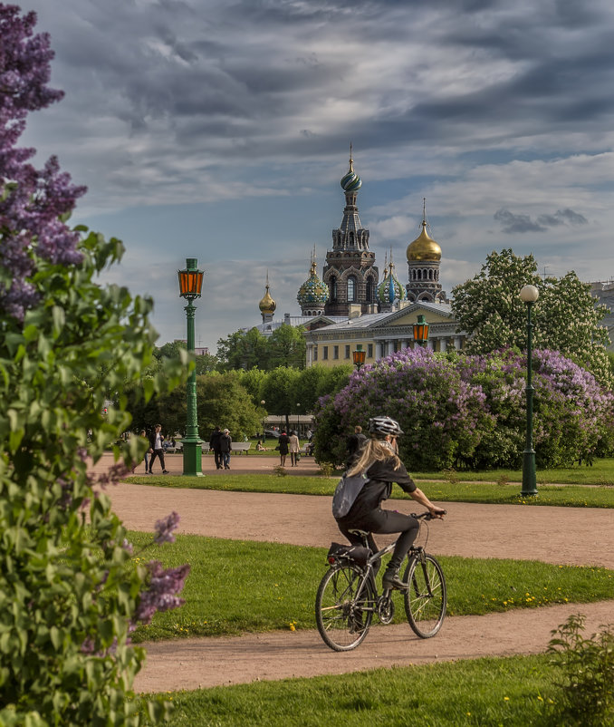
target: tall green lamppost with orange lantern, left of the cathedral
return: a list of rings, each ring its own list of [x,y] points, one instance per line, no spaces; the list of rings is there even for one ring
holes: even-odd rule
[[[187,351],[194,354],[194,312],[196,311],[194,300],[200,297],[203,271],[198,270],[196,257],[188,257],[186,269],[177,270],[177,275],[179,276],[179,297],[187,300],[184,308],[187,318]],[[202,455],[201,439],[198,437],[197,371],[195,368],[187,379],[186,436],[183,440],[183,473],[185,475],[202,477]]]

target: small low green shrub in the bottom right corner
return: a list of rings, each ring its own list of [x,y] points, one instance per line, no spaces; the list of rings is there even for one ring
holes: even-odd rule
[[[552,631],[548,651],[563,673],[561,723],[604,725],[614,719],[614,631],[584,638],[585,616],[572,614]]]

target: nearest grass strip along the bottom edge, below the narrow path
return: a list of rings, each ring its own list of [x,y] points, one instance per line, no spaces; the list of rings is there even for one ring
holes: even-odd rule
[[[558,727],[560,675],[538,655],[238,684],[170,694],[168,725]]]

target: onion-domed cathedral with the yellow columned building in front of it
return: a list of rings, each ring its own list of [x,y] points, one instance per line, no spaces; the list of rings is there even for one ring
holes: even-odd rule
[[[332,247],[326,253],[321,278],[313,248],[309,277],[299,288],[297,301],[302,315],[285,314],[273,322],[275,302],[266,292],[260,301],[263,334],[279,325],[302,325],[307,339],[307,365],[349,363],[356,344],[364,344],[367,363],[413,346],[413,323],[424,315],[430,324],[428,347],[445,351],[460,349],[465,334],[458,334],[446,292],[439,282],[441,247],[428,233],[426,203],[420,234],[407,247],[408,283],[398,279],[392,248],[386,252],[379,280],[375,253],[369,249],[369,230],[360,222],[357,204],[362,180],[350,164],[341,178],[345,207],[341,226],[332,230]],[[248,330],[248,329],[245,329]]]

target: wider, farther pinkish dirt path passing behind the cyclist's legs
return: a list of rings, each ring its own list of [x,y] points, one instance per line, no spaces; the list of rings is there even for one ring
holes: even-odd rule
[[[113,509],[134,530],[152,530],[157,519],[176,510],[181,516],[179,532],[212,538],[306,546],[328,546],[341,538],[330,498],[129,484],[109,492]],[[446,520],[429,526],[428,550],[435,554],[614,568],[612,509],[442,504]],[[394,499],[387,507],[417,509],[415,503]],[[388,542],[383,536],[377,540]]]

